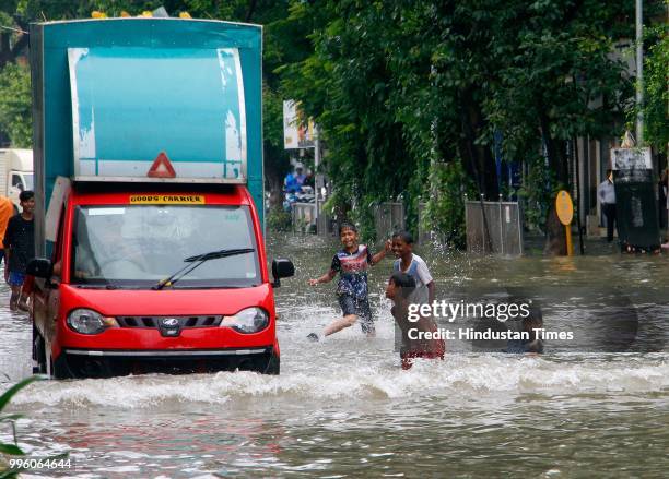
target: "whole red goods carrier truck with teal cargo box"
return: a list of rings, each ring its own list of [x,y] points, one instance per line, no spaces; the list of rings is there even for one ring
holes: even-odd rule
[[[31,40],[36,369],[278,374],[294,268],[270,280],[262,239],[261,28],[87,20]]]

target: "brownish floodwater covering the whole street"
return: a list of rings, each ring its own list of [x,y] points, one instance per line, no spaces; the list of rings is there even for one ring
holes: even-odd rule
[[[277,292],[281,375],[218,373],[43,381],[11,411],[32,456],[69,453],[68,477],[666,477],[669,468],[669,258],[603,246],[574,259],[468,258],[420,250],[437,299],[513,290],[544,323],[589,332],[543,356],[447,343],[444,361],[400,369],[384,284],[369,274],[377,336],[359,326],[312,344],[340,315],[334,284],[307,286],[338,242],[270,238],[296,277]],[[471,292],[479,291],[482,292]],[[31,373],[32,326],[0,286],[5,388]],[[624,318],[621,344],[603,319]],[[621,320],[622,321],[622,320]],[[618,324],[618,323],[615,323]],[[547,326],[548,327],[548,326]],[[615,326],[618,327],[618,326]],[[0,440],[11,429],[0,430]]]

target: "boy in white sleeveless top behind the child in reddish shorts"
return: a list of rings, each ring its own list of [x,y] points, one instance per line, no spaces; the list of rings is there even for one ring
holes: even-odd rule
[[[392,235],[392,252],[397,260],[392,271],[407,273],[415,280],[413,302],[432,304],[434,301],[434,280],[421,256],[413,254],[413,237],[407,231]]]

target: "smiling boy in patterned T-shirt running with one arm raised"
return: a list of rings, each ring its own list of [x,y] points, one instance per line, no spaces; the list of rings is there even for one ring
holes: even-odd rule
[[[322,331],[322,335],[329,336],[344,327],[352,326],[360,318],[363,333],[366,333],[367,336],[374,336],[376,331],[367,299],[367,268],[383,260],[386,253],[390,251],[390,241],[386,242],[383,251],[373,255],[365,244],[357,243],[357,229],[348,223],[342,224],[339,228],[339,238],[343,248],[332,258],[330,271],[319,278],[309,279],[309,285],[316,286],[319,283],[331,282],[337,273],[340,273],[337,296],[343,318],[330,323]],[[307,337],[312,340],[318,340],[316,333],[312,333]]]

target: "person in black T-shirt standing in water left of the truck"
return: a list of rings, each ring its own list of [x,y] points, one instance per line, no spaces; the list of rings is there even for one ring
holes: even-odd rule
[[[27,262],[35,258],[35,194],[32,191],[22,191],[19,200],[23,212],[10,218],[4,232],[4,279],[12,287],[10,309],[15,311],[21,308],[27,311],[27,298],[22,297],[21,288],[25,282]]]

